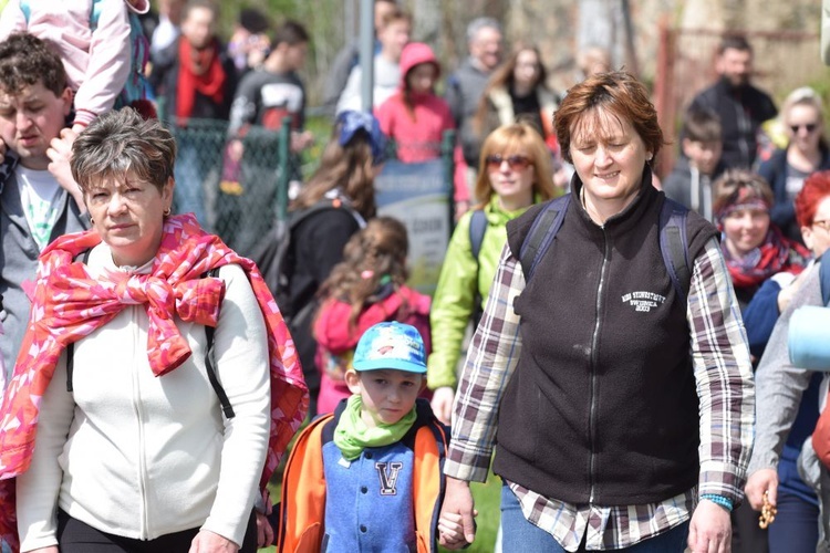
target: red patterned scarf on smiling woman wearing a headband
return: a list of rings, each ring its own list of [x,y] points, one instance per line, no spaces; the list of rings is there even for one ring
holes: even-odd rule
[[[781,271],[799,274],[810,260],[810,252],[807,248],[785,238],[781,231],[774,226],[769,227],[767,238],[758,247],[760,257],[751,267],[734,259],[726,248],[725,240],[722,250],[735,288],[758,286],[765,280]]]

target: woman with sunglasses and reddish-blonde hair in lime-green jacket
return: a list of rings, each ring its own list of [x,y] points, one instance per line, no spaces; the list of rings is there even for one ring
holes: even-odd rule
[[[464,332],[473,314],[487,301],[507,238],[505,226],[533,204],[557,196],[550,153],[533,127],[517,123],[490,133],[481,148],[475,195],[478,205],[461,216],[449,241],[429,316],[433,352],[427,382],[434,390],[433,410],[447,425]],[[486,226],[476,257],[470,225],[477,210],[484,212]]]

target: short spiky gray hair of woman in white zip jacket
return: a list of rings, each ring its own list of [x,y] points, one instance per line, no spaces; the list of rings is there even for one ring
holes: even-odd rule
[[[173,177],[176,140],[158,119],[145,119],[132,107],[93,121],[72,144],[72,177],[85,194],[104,178],[127,174],[160,191]]]

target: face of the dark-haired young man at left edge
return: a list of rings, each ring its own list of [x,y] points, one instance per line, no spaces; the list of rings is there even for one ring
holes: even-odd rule
[[[69,87],[60,96],[42,83],[19,94],[0,90],[0,137],[20,156],[23,167],[43,170],[49,166],[49,143],[60,136],[71,107]]]

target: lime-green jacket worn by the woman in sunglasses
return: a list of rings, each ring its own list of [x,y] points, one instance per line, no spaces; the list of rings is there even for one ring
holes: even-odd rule
[[[426,372],[429,389],[444,386],[456,388],[456,365],[461,353],[464,331],[473,315],[476,290],[481,295],[484,307],[496,276],[501,249],[507,242],[507,221],[525,211],[527,208],[505,211],[498,205],[498,196],[490,197],[490,202],[485,207],[488,225],[478,262],[473,258],[469,241],[473,211],[464,213],[458,221],[447,247],[429,313],[433,330],[433,353],[427,359]]]

